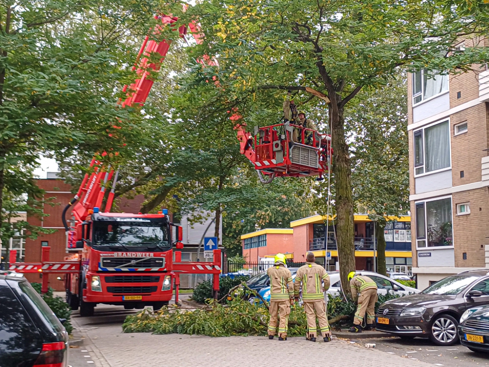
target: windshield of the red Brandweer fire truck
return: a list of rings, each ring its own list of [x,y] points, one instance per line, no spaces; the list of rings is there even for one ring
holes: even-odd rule
[[[145,247],[154,251],[171,247],[168,229],[156,223],[139,222],[94,222],[93,245],[120,247],[120,250],[131,247]],[[118,249],[119,251],[119,249]]]

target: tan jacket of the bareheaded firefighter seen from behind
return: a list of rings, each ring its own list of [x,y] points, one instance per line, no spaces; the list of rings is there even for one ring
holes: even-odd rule
[[[330,276],[321,265],[308,262],[306,265],[301,266],[295,275],[295,297],[299,297],[301,283],[302,300],[304,302],[314,302],[324,299],[324,292],[330,288]]]

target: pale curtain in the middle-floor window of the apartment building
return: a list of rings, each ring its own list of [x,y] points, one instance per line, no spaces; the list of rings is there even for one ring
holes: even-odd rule
[[[425,172],[450,166],[449,134],[448,121],[424,129]]]

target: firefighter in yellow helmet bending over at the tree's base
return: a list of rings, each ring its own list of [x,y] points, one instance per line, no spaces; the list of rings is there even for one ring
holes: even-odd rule
[[[355,272],[348,274],[348,281],[352,290],[353,300],[358,300],[353,327],[351,333],[362,332],[362,322],[367,314],[367,330],[373,329],[375,320],[375,303],[377,302],[377,284],[372,278],[365,275],[356,275]],[[359,295],[358,295],[359,294]]]

